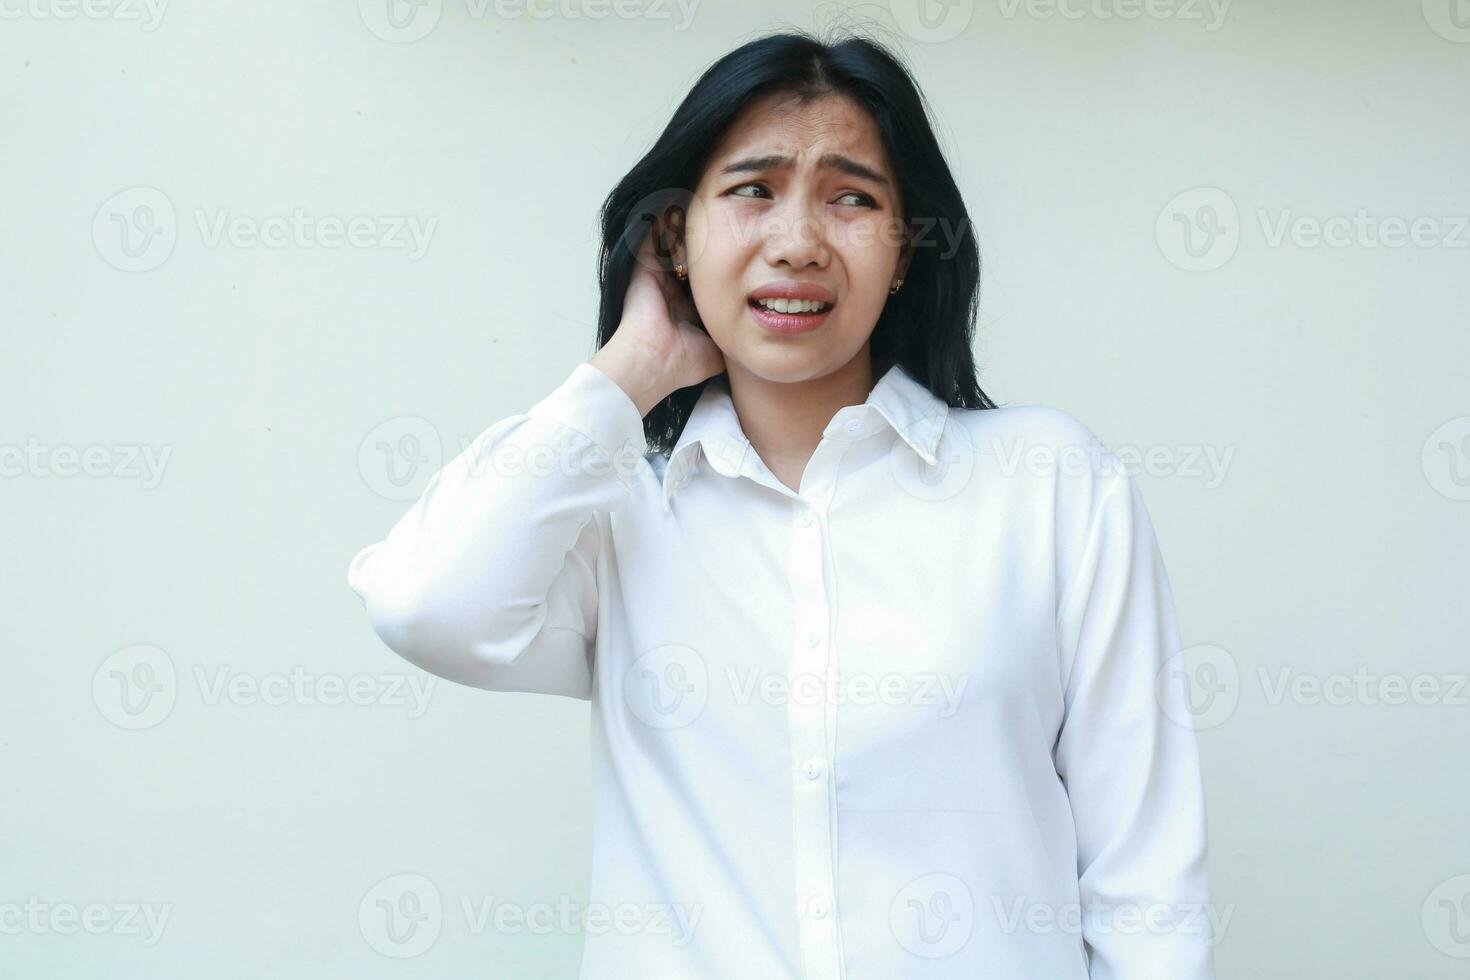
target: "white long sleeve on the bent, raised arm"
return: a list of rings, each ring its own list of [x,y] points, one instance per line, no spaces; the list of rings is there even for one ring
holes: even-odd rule
[[[595,514],[628,500],[644,450],[632,398],[584,361],[435,473],[347,583],[378,636],[432,674],[588,699]]]

